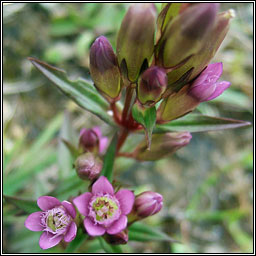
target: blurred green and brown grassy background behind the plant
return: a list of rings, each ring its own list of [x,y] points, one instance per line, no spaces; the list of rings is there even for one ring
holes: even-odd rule
[[[79,130],[100,125],[52,86],[27,57],[36,57],[68,72],[89,77],[88,54],[99,35],[115,48],[129,4],[15,3],[3,6],[3,143],[4,194],[36,200],[48,194],[60,200],[85,191],[72,169],[73,159],[61,142],[76,144]],[[157,4],[158,10],[161,4]],[[253,4],[223,3],[236,18],[213,61],[224,64],[223,80],[231,87],[218,99],[200,105],[201,113],[253,121]],[[129,137],[127,148],[136,136]],[[142,139],[142,137],[141,137]],[[119,158],[116,179],[136,191],[164,196],[164,208],[145,220],[180,244],[129,242],[125,252],[249,253],[253,250],[253,129],[245,127],[194,133],[191,143],[172,157],[138,163]],[[24,227],[26,215],[4,201],[3,250],[42,251],[39,233]],[[102,252],[96,240],[78,252]]]

